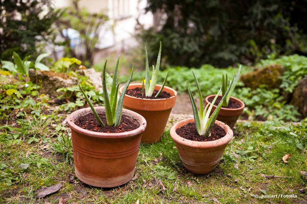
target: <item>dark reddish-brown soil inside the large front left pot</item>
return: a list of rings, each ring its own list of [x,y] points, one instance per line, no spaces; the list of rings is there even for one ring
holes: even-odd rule
[[[75,124],[80,128],[90,130],[93,132],[104,132],[104,133],[119,133],[119,132],[128,132],[140,127],[138,121],[134,118],[122,116],[122,121],[119,126],[107,126],[107,119],[104,113],[98,113],[101,121],[106,127],[101,127],[100,123],[96,120],[94,113],[89,113],[87,115],[79,117]]]

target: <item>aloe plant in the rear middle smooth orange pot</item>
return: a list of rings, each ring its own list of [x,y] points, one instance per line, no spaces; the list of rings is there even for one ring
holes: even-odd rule
[[[161,42],[160,42],[160,48],[159,48],[159,53],[158,53],[158,57],[157,57],[156,68],[152,65],[153,66],[153,73],[152,73],[151,80],[150,80],[149,65],[148,65],[148,55],[147,55],[147,49],[146,49],[146,46],[145,46],[145,55],[146,55],[146,59],[145,59],[145,63],[146,63],[145,96],[149,96],[149,97],[152,96],[154,88],[155,88],[155,86],[157,84],[157,79],[158,79],[158,74],[159,74],[159,69],[160,69],[160,61],[161,61],[161,47],[162,47],[162,45],[161,45]],[[165,86],[165,83],[166,83],[168,75],[169,75],[169,72],[167,72],[166,77],[165,77],[165,79],[163,81],[163,84],[162,84],[160,90],[154,96],[155,98],[157,98],[161,94],[161,92],[163,90],[163,87]]]

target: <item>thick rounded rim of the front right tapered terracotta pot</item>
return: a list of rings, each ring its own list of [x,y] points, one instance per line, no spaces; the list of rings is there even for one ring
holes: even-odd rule
[[[224,126],[227,129],[226,135],[224,137],[220,138],[220,139],[217,139],[217,140],[214,140],[214,141],[200,142],[200,141],[188,140],[188,139],[185,139],[185,138],[177,135],[176,130],[178,128],[181,128],[185,124],[190,123],[190,122],[194,122],[194,118],[188,118],[188,119],[179,121],[179,122],[177,122],[176,124],[173,125],[173,127],[170,130],[170,135],[171,135],[171,137],[174,141],[176,141],[177,143],[180,143],[182,145],[189,146],[189,147],[210,148],[210,147],[218,147],[218,146],[225,145],[225,144],[229,143],[229,141],[233,137],[232,129],[227,124],[225,124],[221,121],[217,121],[217,120],[215,121],[215,124],[217,124],[221,127]]]

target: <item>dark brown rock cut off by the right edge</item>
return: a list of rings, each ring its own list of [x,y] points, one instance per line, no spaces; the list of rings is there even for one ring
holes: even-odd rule
[[[307,76],[294,89],[290,104],[297,107],[303,117],[307,117]]]

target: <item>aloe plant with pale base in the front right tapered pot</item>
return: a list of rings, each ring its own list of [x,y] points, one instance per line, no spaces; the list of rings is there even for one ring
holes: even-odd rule
[[[193,71],[192,71],[193,72]],[[203,135],[203,136],[209,136],[210,135],[210,131],[213,128],[213,125],[215,124],[216,121],[216,117],[218,116],[220,109],[222,107],[222,103],[224,100],[226,100],[226,97],[229,93],[229,91],[231,90],[231,87],[233,85],[233,81],[234,81],[234,77],[232,78],[229,87],[227,88],[227,91],[225,92],[225,95],[223,96],[222,100],[220,101],[219,105],[216,107],[216,109],[213,111],[211,117],[209,117],[210,112],[212,110],[212,107],[214,105],[214,102],[216,101],[217,97],[219,96],[220,92],[221,92],[221,88],[219,90],[219,92],[216,94],[216,97],[213,99],[213,101],[211,103],[208,103],[207,106],[205,107],[205,109],[203,109],[204,105],[203,105],[203,97],[201,95],[201,91],[200,91],[200,87],[198,84],[198,80],[196,78],[195,73],[193,72],[194,75],[194,79],[196,82],[196,87],[197,87],[197,91],[198,91],[198,97],[199,97],[199,103],[200,103],[200,110],[198,111],[197,107],[196,107],[196,103],[195,100],[193,98],[192,92],[190,90],[190,86],[189,83],[187,81],[187,87],[188,87],[188,94],[190,97],[190,101],[192,103],[192,109],[193,109],[193,114],[194,114],[194,121],[195,121],[195,126],[196,126],[196,130],[197,133],[199,135]]]

